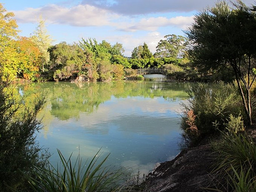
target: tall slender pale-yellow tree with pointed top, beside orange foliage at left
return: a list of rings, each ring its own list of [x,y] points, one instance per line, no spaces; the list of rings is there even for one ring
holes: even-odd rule
[[[47,50],[51,46],[53,40],[50,35],[47,35],[45,21],[42,17],[39,18],[38,26],[36,27],[31,39],[41,52],[41,70],[44,72],[45,66],[47,66],[50,61],[50,55]]]

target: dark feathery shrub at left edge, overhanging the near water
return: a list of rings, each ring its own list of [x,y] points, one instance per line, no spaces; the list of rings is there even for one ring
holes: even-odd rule
[[[37,96],[33,108],[25,106],[14,87],[0,83],[0,188],[22,191],[27,182],[22,173],[31,174],[33,166],[44,166],[47,155],[39,148],[35,133],[41,129],[38,111],[44,97]],[[33,102],[33,101],[30,101]],[[46,156],[44,156],[46,155]],[[45,159],[46,158],[46,159]]]

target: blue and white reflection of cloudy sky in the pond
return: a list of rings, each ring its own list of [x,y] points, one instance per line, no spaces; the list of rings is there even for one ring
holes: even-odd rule
[[[111,97],[92,114],[81,113],[66,121],[52,117],[49,130],[42,130],[38,140],[53,154],[53,165],[57,148],[66,157],[71,153],[76,157],[79,149],[84,159],[102,148],[103,155],[111,153],[109,164],[139,166],[140,172],[147,173],[155,163],[179,153],[179,103],[160,97]]]

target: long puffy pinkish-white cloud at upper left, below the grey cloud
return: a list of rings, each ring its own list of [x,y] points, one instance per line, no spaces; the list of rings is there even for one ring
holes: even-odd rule
[[[110,19],[118,17],[107,10],[91,5],[76,5],[70,8],[58,5],[47,5],[37,9],[28,8],[24,11],[14,11],[18,22],[37,22],[39,15],[49,23],[70,26],[105,26],[110,24]]]

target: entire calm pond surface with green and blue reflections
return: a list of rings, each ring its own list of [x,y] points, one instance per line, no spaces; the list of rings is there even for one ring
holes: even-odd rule
[[[110,82],[71,84],[47,82],[20,86],[20,94],[47,93],[39,114],[43,129],[37,135],[49,148],[53,165],[57,149],[65,157],[80,153],[91,159],[101,148],[111,165],[148,173],[157,162],[179,153],[180,103],[188,83]]]

